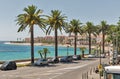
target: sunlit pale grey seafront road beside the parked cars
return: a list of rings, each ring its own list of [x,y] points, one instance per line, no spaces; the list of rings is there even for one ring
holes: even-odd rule
[[[108,63],[108,58],[102,58],[102,62]],[[45,67],[19,67],[17,70],[0,71],[0,79],[82,79],[83,73],[89,72],[98,64],[99,58],[89,58]]]

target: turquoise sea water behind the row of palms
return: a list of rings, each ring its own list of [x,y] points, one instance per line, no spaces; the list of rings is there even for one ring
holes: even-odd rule
[[[34,54],[35,58],[39,58],[38,50],[43,48],[48,48],[50,54],[47,54],[47,57],[54,57],[54,46],[34,46]],[[4,42],[0,42],[0,61],[5,60],[20,60],[20,59],[30,59],[30,46],[26,45],[10,45],[5,44]],[[68,48],[69,55],[74,54],[74,48]],[[88,53],[88,50],[85,51]],[[80,55],[81,51],[77,48],[77,54]],[[67,47],[58,47],[58,56],[66,56],[67,55]]]

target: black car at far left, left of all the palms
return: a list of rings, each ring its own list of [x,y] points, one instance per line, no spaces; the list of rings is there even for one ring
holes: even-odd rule
[[[16,70],[17,65],[15,61],[6,61],[5,63],[1,65],[0,69],[1,70]]]

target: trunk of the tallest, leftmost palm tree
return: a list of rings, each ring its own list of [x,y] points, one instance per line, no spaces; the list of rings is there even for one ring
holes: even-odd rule
[[[31,64],[34,64],[34,28],[31,26]]]

